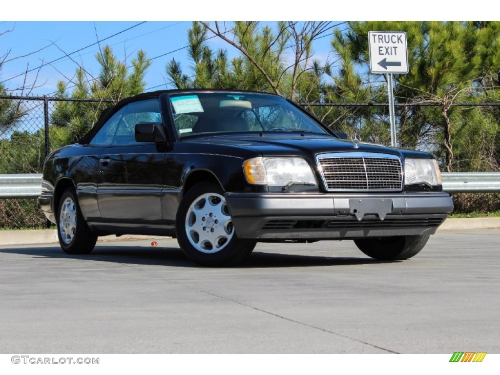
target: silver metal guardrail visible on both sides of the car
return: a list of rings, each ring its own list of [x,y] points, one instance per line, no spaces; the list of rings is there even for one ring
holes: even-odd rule
[[[0,199],[36,198],[41,194],[41,174],[0,174]],[[442,173],[447,192],[500,192],[500,172]]]

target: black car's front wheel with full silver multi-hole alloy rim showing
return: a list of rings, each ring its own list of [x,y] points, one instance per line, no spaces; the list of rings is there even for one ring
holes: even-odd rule
[[[184,254],[200,265],[239,263],[256,243],[237,237],[222,188],[213,182],[197,183],[184,194],[175,228]]]

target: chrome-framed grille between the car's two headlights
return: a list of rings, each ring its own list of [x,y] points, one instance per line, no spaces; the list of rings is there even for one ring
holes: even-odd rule
[[[328,191],[400,191],[397,156],[369,153],[320,154],[317,161]]]

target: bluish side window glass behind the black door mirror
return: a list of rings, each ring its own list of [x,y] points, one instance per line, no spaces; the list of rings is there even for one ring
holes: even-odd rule
[[[162,122],[157,99],[134,101],[122,107],[102,125],[90,144],[138,144],[135,141],[135,124],[139,122]]]

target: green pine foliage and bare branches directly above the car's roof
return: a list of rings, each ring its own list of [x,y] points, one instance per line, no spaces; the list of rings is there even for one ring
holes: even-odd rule
[[[193,22],[188,31],[192,75],[184,74],[174,59],[166,65],[166,73],[177,88],[243,89],[280,93],[297,101],[317,100],[325,67],[311,58],[311,38],[326,32],[327,24],[280,21],[273,30],[256,21],[235,21],[231,30],[213,30],[220,37],[227,34],[226,40],[241,51],[228,60],[225,49],[213,51],[208,46],[206,24]]]

